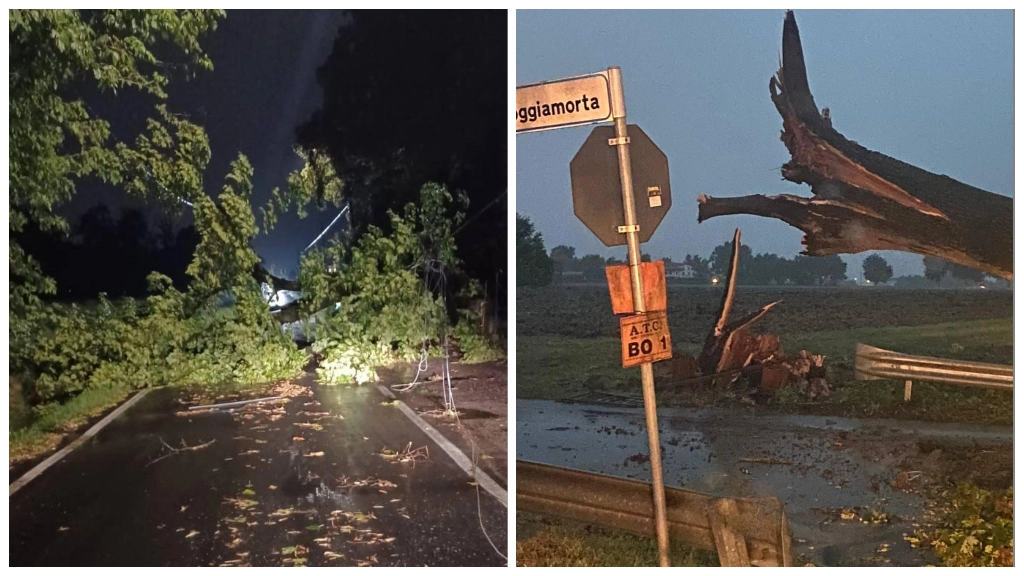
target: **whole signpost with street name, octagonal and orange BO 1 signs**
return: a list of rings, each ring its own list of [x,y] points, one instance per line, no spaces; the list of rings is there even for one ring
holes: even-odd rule
[[[669,186],[669,161],[657,146],[634,127],[637,136],[639,183],[647,195],[647,204],[640,213],[645,230],[640,230],[636,202],[633,197],[633,169],[630,159],[630,137],[626,124],[626,99],[618,67],[607,71],[562,78],[539,84],[516,87],[516,108],[512,121],[516,133],[582,126],[613,120],[614,137],[606,137],[606,127],[595,128],[587,142],[570,163],[573,211],[577,216],[607,246],[621,246],[626,235],[629,249],[630,285],[635,316],[622,319],[623,365],[640,364],[643,380],[644,414],[647,419],[647,440],[650,445],[651,485],[654,489],[654,527],[657,534],[658,562],[669,566],[669,524],[665,510],[665,482],[662,479],[662,449],[657,440],[657,408],[654,401],[654,369],[651,362],[672,357],[672,340],[664,311],[647,313],[651,302],[644,301],[644,286],[640,261],[641,239],[650,238],[672,206]],[[608,134],[610,135],[610,134]],[[600,138],[600,139],[598,139]],[[618,159],[618,182],[622,189],[623,220],[617,210],[608,208],[615,191],[610,174],[613,165],[605,146],[615,147]],[[624,221],[625,225],[620,224]],[[615,225],[609,225],[611,223]],[[609,277],[610,278],[610,277]],[[664,283],[664,270],[662,271]],[[657,305],[656,303],[654,305]],[[634,348],[636,354],[634,353]]]

